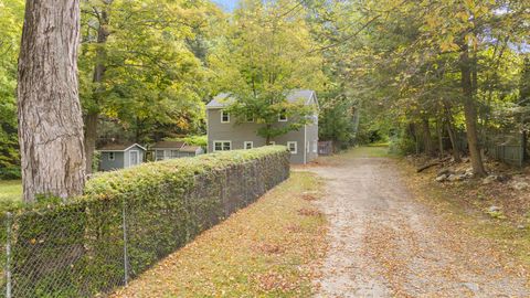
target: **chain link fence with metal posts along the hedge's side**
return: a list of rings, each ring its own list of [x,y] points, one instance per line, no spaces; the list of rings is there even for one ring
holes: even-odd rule
[[[4,213],[1,296],[106,296],[288,175],[288,156],[264,158],[197,174],[184,187],[162,182],[124,200]]]

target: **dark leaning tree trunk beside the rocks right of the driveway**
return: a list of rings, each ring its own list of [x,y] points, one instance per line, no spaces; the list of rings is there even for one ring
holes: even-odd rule
[[[473,83],[471,83],[471,65],[469,61],[469,52],[467,44],[462,46],[460,53],[460,74],[462,74],[462,91],[464,96],[464,116],[466,118],[466,135],[469,146],[469,157],[475,175],[486,175],[480,149],[478,145],[477,131],[477,109],[473,98]]]

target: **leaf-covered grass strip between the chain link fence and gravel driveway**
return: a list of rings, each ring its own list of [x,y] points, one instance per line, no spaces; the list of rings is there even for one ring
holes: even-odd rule
[[[308,297],[325,253],[326,220],[307,172],[204,232],[114,297]]]

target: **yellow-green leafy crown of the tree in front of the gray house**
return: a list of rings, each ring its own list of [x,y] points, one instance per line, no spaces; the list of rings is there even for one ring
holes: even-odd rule
[[[242,121],[253,116],[264,125],[257,134],[267,139],[299,129],[315,113],[286,100],[293,89],[320,89],[324,82],[322,60],[311,52],[316,44],[304,12],[297,1],[243,1],[211,60],[219,92],[236,98],[231,113]],[[274,126],[284,111],[289,124]]]

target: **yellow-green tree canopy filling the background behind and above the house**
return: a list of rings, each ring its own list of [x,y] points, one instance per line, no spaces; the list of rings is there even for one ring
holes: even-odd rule
[[[0,8],[7,169],[19,163],[24,3],[1,0]],[[524,1],[243,0],[229,13],[208,0],[86,0],[81,32],[88,151],[96,141],[202,134],[204,104],[223,92],[237,98],[231,110],[240,119],[264,124],[257,132],[265,138],[299,128],[314,113],[285,94],[315,89],[320,139],[349,146],[390,138],[402,152],[470,153],[478,173],[479,150],[526,136],[529,126]],[[299,120],[278,128],[279,114]]]

